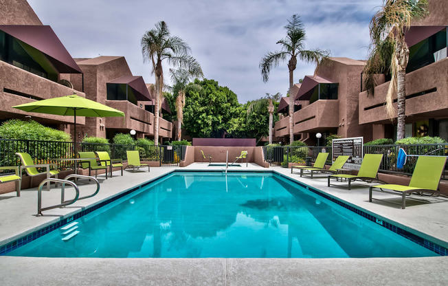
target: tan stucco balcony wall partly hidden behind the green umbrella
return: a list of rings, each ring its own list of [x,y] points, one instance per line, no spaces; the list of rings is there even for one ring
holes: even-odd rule
[[[14,105],[33,102],[34,100],[70,96],[73,93],[74,90],[65,85],[60,85],[52,80],[0,61],[0,118],[24,119],[25,115],[32,115],[34,119],[42,119],[49,123],[73,124],[73,116],[29,113],[12,108]],[[80,91],[76,91],[76,94],[85,97],[85,94]],[[85,124],[85,118],[77,117],[76,124]]]

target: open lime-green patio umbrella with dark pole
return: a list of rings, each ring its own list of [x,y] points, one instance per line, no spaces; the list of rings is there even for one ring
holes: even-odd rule
[[[107,107],[104,104],[76,96],[62,96],[60,98],[49,98],[45,100],[38,100],[21,105],[16,105],[14,108],[27,112],[47,113],[54,115],[74,116],[75,137],[74,146],[76,153],[76,116],[87,117],[113,117],[123,116],[124,113],[120,110]]]

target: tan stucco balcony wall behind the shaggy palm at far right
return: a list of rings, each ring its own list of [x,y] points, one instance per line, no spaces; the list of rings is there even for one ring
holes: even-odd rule
[[[359,123],[390,122],[384,102],[389,83],[375,87],[374,96],[359,94]],[[410,120],[446,117],[448,114],[448,58],[406,74],[406,116]],[[394,96],[396,110],[396,96]],[[396,112],[394,117],[396,118]]]

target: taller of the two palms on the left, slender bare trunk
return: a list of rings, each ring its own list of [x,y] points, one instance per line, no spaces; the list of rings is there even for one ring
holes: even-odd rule
[[[168,64],[188,71],[196,69],[199,64],[190,56],[191,50],[188,44],[178,36],[170,35],[168,26],[164,21],[157,23],[155,28],[142,36],[141,45],[143,59],[153,64],[151,74],[155,74],[154,143],[157,145],[159,142],[159,102],[164,87],[162,61],[166,60]]]

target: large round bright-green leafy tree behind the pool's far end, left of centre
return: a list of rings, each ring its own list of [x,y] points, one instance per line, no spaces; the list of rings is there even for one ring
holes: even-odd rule
[[[240,115],[236,94],[216,80],[196,79],[185,92],[183,126],[192,137],[223,137]]]

